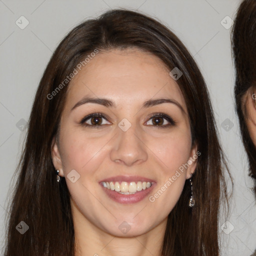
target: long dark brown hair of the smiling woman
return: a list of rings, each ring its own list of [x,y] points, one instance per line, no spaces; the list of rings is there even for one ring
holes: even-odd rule
[[[56,183],[51,161],[51,142],[57,134],[68,83],[52,99],[47,95],[94,49],[127,47],[153,53],[169,70],[178,67],[182,71],[176,82],[187,105],[192,141],[201,153],[193,175],[196,205],[192,209],[187,206],[190,186],[186,180],[177,204],[168,215],[162,255],[219,255],[218,217],[220,201],[227,198],[223,173],[226,163],[203,77],[186,47],[166,26],[136,11],[114,9],[73,28],[46,66],[17,167],[5,256],[74,255],[70,194],[64,178],[59,185]],[[21,220],[29,226],[23,235],[15,229]]]

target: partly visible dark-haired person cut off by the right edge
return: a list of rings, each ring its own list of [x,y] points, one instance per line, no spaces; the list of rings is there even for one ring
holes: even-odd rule
[[[243,1],[232,28],[235,106],[256,193],[256,1]],[[253,255],[256,255],[256,251]]]

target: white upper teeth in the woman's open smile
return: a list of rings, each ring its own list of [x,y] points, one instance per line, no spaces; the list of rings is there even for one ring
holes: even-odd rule
[[[118,181],[103,181],[102,185],[108,189],[115,190],[116,192],[136,192],[150,187],[152,183],[145,181],[138,181],[137,183],[122,181],[121,184],[119,184]]]

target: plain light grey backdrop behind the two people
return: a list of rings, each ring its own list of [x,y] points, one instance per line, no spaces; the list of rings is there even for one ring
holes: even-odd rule
[[[82,20],[96,17],[109,8],[127,7],[156,17],[172,29],[200,67],[234,178],[231,214],[219,223],[222,255],[250,255],[256,248],[256,207],[234,111],[234,68],[229,28],[239,2],[0,0],[0,241],[5,236],[6,196],[20,157],[24,125],[53,50]],[[26,22],[29,23],[23,28],[20,23],[24,26]],[[224,224],[225,221],[228,222]]]

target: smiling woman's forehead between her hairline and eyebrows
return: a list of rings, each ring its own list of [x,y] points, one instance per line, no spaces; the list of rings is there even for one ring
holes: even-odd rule
[[[155,55],[137,48],[97,53],[68,85],[67,104],[83,96],[108,97],[116,104],[140,104],[150,98],[170,97],[186,109],[178,84]]]

